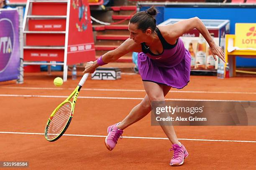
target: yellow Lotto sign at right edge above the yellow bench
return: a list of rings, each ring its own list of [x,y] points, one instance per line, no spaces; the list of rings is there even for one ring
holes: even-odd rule
[[[236,23],[235,47],[256,49],[256,23]]]

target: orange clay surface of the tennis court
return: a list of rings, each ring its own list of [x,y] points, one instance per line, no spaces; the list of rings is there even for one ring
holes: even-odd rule
[[[89,78],[79,96],[100,98],[78,98],[74,117],[65,134],[95,136],[62,136],[53,143],[48,142],[42,134],[50,113],[73,91],[81,78],[78,76],[78,80],[71,80],[69,75],[67,82],[61,87],[55,87],[53,80],[61,75],[61,72],[52,72],[52,75],[47,75],[46,72],[26,73],[22,85],[16,84],[14,80],[0,82],[0,95],[41,95],[0,97],[0,161],[29,161],[28,169],[33,170],[256,169],[256,142],[180,140],[189,152],[189,157],[181,167],[169,166],[173,154],[169,152],[169,140],[123,138],[118,140],[118,145],[113,151],[108,151],[104,145],[108,126],[122,120],[141,101],[136,98],[143,98],[146,93],[102,91],[92,88],[143,90],[139,75],[121,75],[120,80],[112,81]],[[45,87],[54,89],[43,89]],[[219,80],[215,76],[191,76],[189,84],[184,89],[171,89],[166,98],[256,101],[256,77]],[[147,115],[125,129],[123,136],[166,138],[161,127],[151,126],[150,117]],[[174,128],[179,139],[256,141],[255,126]]]

